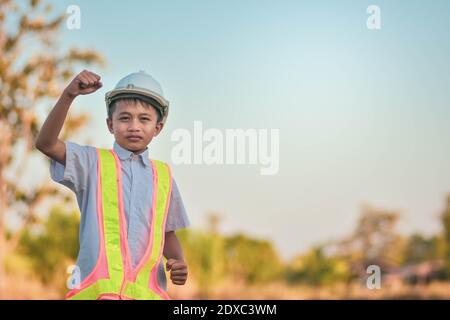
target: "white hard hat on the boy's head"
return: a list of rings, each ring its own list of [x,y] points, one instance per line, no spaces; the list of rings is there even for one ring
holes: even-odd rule
[[[158,109],[161,122],[165,123],[169,114],[169,101],[164,98],[161,85],[144,71],[131,73],[122,78],[113,90],[105,94],[106,111],[111,103],[122,98],[139,98]]]

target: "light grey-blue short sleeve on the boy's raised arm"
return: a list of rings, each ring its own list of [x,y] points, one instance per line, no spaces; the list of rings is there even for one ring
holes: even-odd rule
[[[91,146],[81,146],[65,141],[66,165],[52,159],[50,176],[53,181],[62,184],[75,193],[86,190],[89,183],[90,169],[96,163],[96,150]]]

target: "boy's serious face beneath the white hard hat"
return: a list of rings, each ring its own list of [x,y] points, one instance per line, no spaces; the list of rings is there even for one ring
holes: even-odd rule
[[[106,122],[122,148],[140,153],[161,131],[163,124],[157,120],[155,108],[145,107],[140,102],[118,100],[112,119],[108,118]]]

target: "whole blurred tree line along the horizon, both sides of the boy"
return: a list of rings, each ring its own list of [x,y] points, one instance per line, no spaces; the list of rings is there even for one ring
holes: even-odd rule
[[[443,232],[425,237],[396,232],[399,213],[364,207],[354,232],[347,238],[312,247],[284,262],[270,241],[218,232],[218,215],[210,214],[206,230],[182,229],[177,235],[201,298],[212,296],[224,282],[244,286],[282,281],[287,284],[330,286],[349,283],[370,264],[401,267],[445,260],[449,265],[450,197],[441,215]],[[18,254],[30,261],[42,282],[64,292],[67,267],[78,252],[78,210],[51,209],[47,219],[23,230]],[[17,254],[16,253],[16,254]]]

